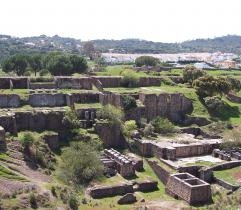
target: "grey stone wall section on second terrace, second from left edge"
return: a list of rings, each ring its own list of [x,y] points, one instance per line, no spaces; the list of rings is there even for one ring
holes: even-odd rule
[[[63,93],[38,93],[30,94],[28,103],[33,107],[66,106],[66,95]]]

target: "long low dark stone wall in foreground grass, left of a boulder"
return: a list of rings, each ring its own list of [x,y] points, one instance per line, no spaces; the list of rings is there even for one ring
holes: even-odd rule
[[[96,186],[89,190],[89,194],[92,198],[105,198],[116,195],[125,195],[126,193],[133,193],[132,184],[121,184],[115,186]]]

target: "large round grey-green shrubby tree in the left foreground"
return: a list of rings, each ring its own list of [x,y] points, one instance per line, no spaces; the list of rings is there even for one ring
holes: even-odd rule
[[[103,174],[100,153],[93,145],[73,142],[61,155],[59,176],[66,183],[84,185]]]

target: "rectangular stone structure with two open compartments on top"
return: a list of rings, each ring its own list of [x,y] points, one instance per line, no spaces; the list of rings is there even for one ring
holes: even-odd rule
[[[212,197],[210,184],[189,173],[170,175],[166,193],[191,205],[209,203]]]

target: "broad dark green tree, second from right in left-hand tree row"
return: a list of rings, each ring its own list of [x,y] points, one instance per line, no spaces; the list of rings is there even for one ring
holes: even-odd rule
[[[46,67],[53,75],[71,75],[73,73],[73,65],[67,55],[52,56]]]

